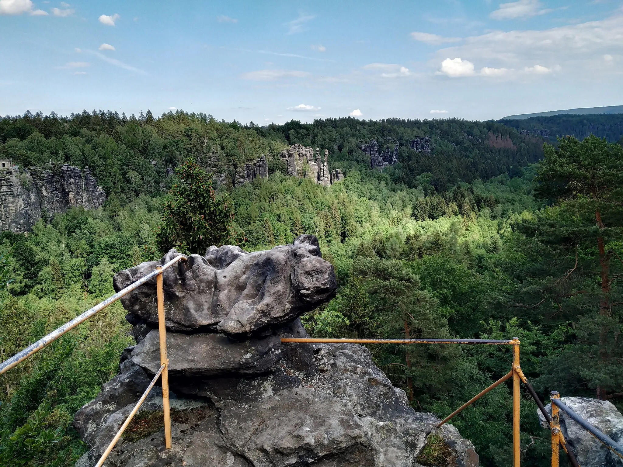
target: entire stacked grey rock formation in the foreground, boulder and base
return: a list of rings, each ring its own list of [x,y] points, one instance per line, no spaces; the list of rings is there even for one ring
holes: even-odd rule
[[[176,255],[121,271],[115,290]],[[416,467],[431,433],[445,440],[454,465],[478,465],[472,443],[415,412],[366,347],[280,341],[307,337],[300,316],[336,294],[335,271],[313,235],[254,253],[210,247],[164,271],[163,283],[173,447],[164,448],[162,393],[154,389],[142,422],[130,425],[105,466]],[[136,345],[75,415],[89,448],[78,467],[97,462],[160,366],[154,280],[121,303]]]

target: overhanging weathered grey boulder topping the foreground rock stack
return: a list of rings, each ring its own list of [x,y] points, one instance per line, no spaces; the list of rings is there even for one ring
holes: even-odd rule
[[[146,262],[121,271],[113,283],[119,291],[163,265]],[[121,299],[136,317],[156,327],[155,279]],[[246,253],[239,247],[211,247],[190,255],[163,273],[166,326],[172,331],[219,331],[250,334],[287,323],[335,296],[331,263],[321,258],[318,240],[301,235],[293,245]]]

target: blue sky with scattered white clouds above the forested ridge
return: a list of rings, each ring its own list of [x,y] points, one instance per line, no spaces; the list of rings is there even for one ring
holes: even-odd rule
[[[623,104],[619,1],[0,0],[0,114],[487,120]]]

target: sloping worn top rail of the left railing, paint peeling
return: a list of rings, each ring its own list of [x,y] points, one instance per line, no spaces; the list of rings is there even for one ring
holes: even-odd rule
[[[76,326],[78,326],[78,324],[81,324],[84,321],[87,321],[88,318],[91,318],[91,316],[102,311],[104,308],[114,303],[115,301],[119,300],[121,297],[128,295],[128,293],[130,293],[131,291],[135,290],[136,288],[150,281],[152,278],[158,276],[159,274],[162,273],[162,271],[164,271],[167,268],[170,268],[175,263],[179,262],[179,260],[186,260],[186,256],[179,255],[173,258],[171,261],[169,261],[162,267],[156,268],[155,270],[151,271],[145,277],[140,278],[136,282],[128,285],[123,290],[118,291],[117,293],[115,293],[115,295],[108,297],[106,300],[93,306],[93,308],[87,309],[87,311],[85,311],[84,313],[76,316],[71,321],[68,321],[67,323],[63,324],[62,326],[60,326],[60,328],[56,329],[55,331],[52,331],[47,336],[42,337],[41,339],[39,339],[39,341],[26,347],[26,349],[22,350],[21,352],[17,352],[17,354],[12,356],[11,358],[0,363],[0,375],[10,370],[12,367],[16,366],[18,363],[26,360],[28,357],[31,357],[32,355],[36,354],[41,349],[43,349],[45,346],[51,344],[56,339],[58,339],[60,336],[67,333],[67,331],[70,331],[71,329],[74,329]]]

